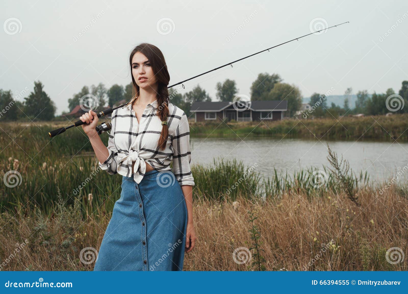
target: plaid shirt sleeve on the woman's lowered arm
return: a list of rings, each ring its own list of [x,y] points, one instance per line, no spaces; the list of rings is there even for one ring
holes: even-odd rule
[[[195,186],[191,172],[190,126],[187,115],[183,112],[182,118],[173,133],[173,173],[180,186]]]

